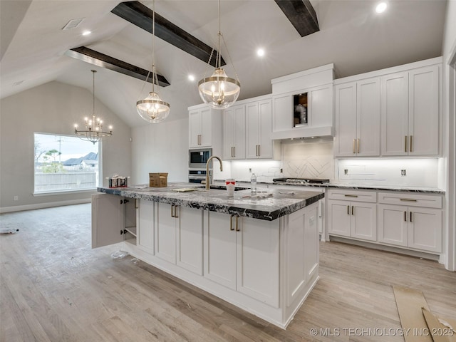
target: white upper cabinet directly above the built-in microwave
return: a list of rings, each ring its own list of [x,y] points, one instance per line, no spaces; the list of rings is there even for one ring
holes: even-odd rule
[[[214,154],[222,152],[222,111],[206,104],[195,105],[188,110],[189,148],[212,147]]]

